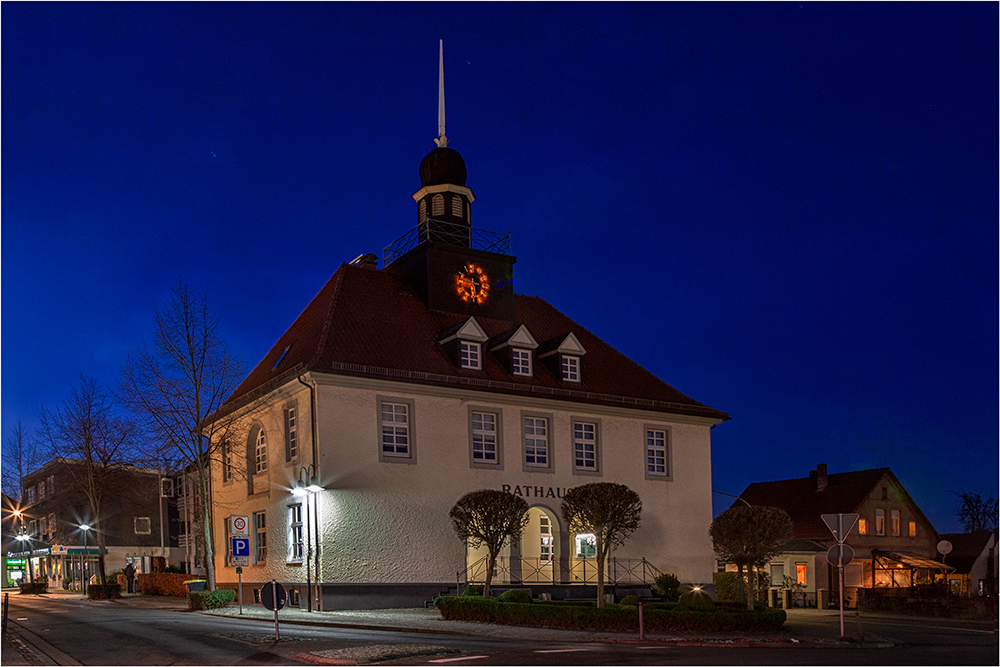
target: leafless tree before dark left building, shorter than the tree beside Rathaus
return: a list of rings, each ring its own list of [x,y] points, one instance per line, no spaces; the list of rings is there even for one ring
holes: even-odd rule
[[[55,412],[43,407],[40,422],[39,437],[48,453],[67,464],[65,474],[90,504],[98,572],[101,583],[107,583],[102,509],[105,500],[128,488],[132,477],[128,464],[135,458],[138,426],[118,415],[110,397],[88,377],[80,378],[69,400]]]

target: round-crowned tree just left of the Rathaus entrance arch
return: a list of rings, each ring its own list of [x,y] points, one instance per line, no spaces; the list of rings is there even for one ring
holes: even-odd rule
[[[483,489],[459,498],[449,516],[459,538],[473,549],[485,544],[489,550],[483,587],[483,595],[489,597],[500,550],[508,541],[517,544],[528,525],[528,503],[513,493]]]

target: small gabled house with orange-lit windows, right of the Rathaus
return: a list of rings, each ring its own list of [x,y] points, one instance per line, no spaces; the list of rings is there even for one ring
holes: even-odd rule
[[[780,574],[804,581],[807,593],[826,589],[836,598],[839,573],[826,558],[836,540],[823,514],[859,515],[846,539],[855,556],[844,568],[845,601],[856,600],[857,588],[911,586],[947,569],[934,561],[937,531],[889,468],[828,474],[819,464],[808,477],[751,484],[740,499],[792,518],[792,540],[769,566],[773,586]]]

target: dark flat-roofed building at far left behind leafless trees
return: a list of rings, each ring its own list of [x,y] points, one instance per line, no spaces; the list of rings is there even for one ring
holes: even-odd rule
[[[44,574],[62,586],[64,578],[78,584],[96,574],[98,526],[104,533],[109,575],[124,568],[127,560],[141,572],[150,571],[157,556],[179,565],[182,552],[176,531],[170,530],[177,516],[173,481],[155,469],[113,466],[116,491],[106,496],[98,523],[81,486],[82,466],[80,461],[56,458],[21,480],[24,525],[36,576]]]

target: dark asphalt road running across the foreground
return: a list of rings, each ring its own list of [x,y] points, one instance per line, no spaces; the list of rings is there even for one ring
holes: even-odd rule
[[[810,646],[806,637],[839,635],[837,614],[795,610],[787,626],[788,642],[775,648],[528,641],[291,624],[281,625],[281,640],[276,642],[269,622],[21,596],[11,596],[9,620],[12,629],[48,653],[49,664],[61,665],[293,665],[303,664],[307,657],[341,661],[376,657],[382,664],[438,667],[998,662],[996,628],[990,624],[866,617],[862,622],[866,647]],[[855,619],[848,620],[856,635]],[[852,634],[850,625],[847,629]],[[795,643],[796,637],[803,639]],[[393,651],[404,657],[394,659]],[[6,658],[5,653],[4,664]]]

